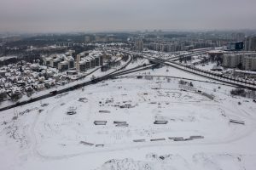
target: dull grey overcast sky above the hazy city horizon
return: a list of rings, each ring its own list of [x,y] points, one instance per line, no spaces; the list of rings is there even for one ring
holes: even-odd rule
[[[256,0],[0,0],[0,31],[256,28]]]

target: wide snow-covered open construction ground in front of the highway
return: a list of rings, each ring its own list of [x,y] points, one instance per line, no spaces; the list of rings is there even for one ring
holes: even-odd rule
[[[192,78],[168,70],[150,74]],[[0,169],[255,169],[256,104],[230,87],[177,82],[121,78],[3,111]]]

